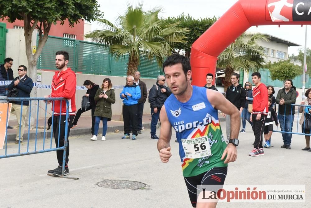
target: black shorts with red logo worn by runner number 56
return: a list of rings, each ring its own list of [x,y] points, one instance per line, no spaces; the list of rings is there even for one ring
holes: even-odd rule
[[[227,167],[214,167],[200,175],[184,177],[191,205],[197,207],[197,191],[201,191],[197,185],[224,185],[226,176]]]

